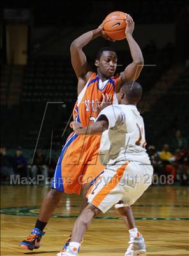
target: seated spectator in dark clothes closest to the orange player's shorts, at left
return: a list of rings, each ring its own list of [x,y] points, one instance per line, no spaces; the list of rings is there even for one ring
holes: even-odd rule
[[[31,166],[31,176],[34,179],[34,182],[36,184],[37,182],[37,175],[38,173],[43,175],[43,183],[45,184],[45,179],[48,177],[48,168],[46,163],[46,157],[42,153],[42,150],[39,149],[36,151],[36,154],[33,159],[33,166]]]

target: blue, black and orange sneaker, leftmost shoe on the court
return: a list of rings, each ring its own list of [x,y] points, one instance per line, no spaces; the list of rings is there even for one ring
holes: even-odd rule
[[[20,247],[27,250],[33,250],[40,248],[41,245],[41,239],[42,236],[45,234],[42,230],[39,228],[33,228],[31,235],[26,238],[26,240],[23,240],[20,242]]]

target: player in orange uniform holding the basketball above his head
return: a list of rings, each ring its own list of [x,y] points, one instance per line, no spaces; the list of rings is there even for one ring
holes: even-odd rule
[[[126,20],[128,22],[125,29],[126,40],[130,47],[133,62],[117,76],[114,76],[117,67],[117,55],[114,49],[105,47],[98,51],[94,63],[97,68],[96,73],[91,71],[86,55],[82,51],[83,47],[98,36],[103,36],[109,40],[103,31],[102,25],[84,33],[72,42],[70,47],[72,66],[78,78],[78,99],[73,109],[73,119],[80,122],[83,127],[94,122],[101,108],[109,104],[109,99],[112,99],[111,103],[117,103],[116,93],[119,92],[121,84],[126,81],[135,81],[140,75],[144,62],[142,52],[132,36],[133,19],[127,14]],[[105,99],[105,95],[109,95],[109,99]],[[102,102],[100,108],[98,102]],[[75,132],[70,134],[59,156],[54,180],[49,193],[43,199],[36,225],[31,235],[20,243],[20,247],[29,250],[40,247],[40,240],[45,234],[43,229],[47,225],[52,212],[56,209],[63,193],[79,195],[83,186],[84,198],[86,197],[87,189],[104,169],[98,159],[99,146],[100,136],[98,135],[84,136],[77,135]],[[82,206],[85,205],[86,202]],[[123,216],[125,223],[128,224],[130,235],[137,234],[132,209],[125,207],[118,209],[118,211]],[[68,244],[66,243],[64,248]]]

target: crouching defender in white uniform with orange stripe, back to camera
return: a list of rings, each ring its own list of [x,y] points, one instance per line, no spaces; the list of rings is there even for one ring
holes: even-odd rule
[[[94,216],[107,212],[113,205],[132,205],[151,185],[153,167],[146,153],[144,122],[137,110],[142,87],[137,82],[123,84],[119,104],[103,109],[96,122],[81,127],[73,122],[77,134],[102,134],[100,161],[106,168],[87,194],[88,203],[72,231],[72,242],[62,255],[77,255],[80,241]],[[137,232],[130,237],[128,255],[144,255],[146,246]]]

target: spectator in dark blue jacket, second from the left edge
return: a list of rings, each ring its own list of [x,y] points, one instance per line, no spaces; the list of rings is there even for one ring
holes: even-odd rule
[[[17,147],[13,160],[15,173],[20,174],[20,177],[27,177],[27,159],[22,155],[21,147]]]

